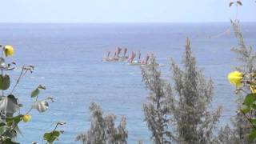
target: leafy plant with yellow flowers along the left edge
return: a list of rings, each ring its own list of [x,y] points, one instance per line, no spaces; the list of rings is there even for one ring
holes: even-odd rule
[[[0,143],[12,144],[18,143],[16,142],[16,137],[21,133],[18,127],[19,122],[30,122],[31,110],[36,109],[38,112],[44,112],[48,109],[48,102],[53,102],[54,99],[51,97],[39,98],[40,90],[46,90],[45,86],[39,85],[30,94],[31,98],[34,100],[30,109],[27,110],[25,114],[21,114],[20,109],[22,108],[22,104],[19,102],[18,98],[15,97],[14,91],[17,90],[18,83],[21,82],[22,78],[24,78],[28,72],[33,73],[34,66],[22,66],[18,79],[14,83],[13,88],[10,89],[10,75],[7,72],[16,69],[17,66],[15,62],[6,63],[6,59],[14,54],[14,48],[12,46],[1,45],[0,48],[2,49],[2,57],[0,58],[0,90],[2,91],[0,96]],[[6,90],[9,89],[10,93],[6,92]],[[57,126],[58,125],[60,125],[60,123],[58,123]],[[50,137],[47,137],[48,133],[45,134],[47,142],[52,143],[58,138],[60,134],[57,136],[55,133],[58,132],[54,132],[53,136]]]

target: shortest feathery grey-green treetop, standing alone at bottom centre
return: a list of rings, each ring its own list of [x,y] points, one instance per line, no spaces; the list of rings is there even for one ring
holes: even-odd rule
[[[76,138],[84,144],[126,144],[128,131],[126,130],[126,118],[123,117],[119,126],[114,127],[116,116],[108,114],[103,116],[100,106],[92,102],[90,104],[91,124],[90,130],[80,134]]]

